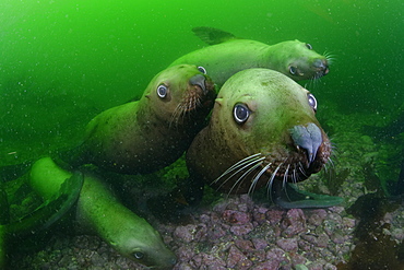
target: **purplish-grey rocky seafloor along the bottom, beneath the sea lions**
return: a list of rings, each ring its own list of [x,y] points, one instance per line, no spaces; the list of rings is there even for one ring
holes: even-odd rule
[[[403,208],[385,215],[391,238],[404,238]],[[174,269],[337,269],[355,247],[357,221],[343,207],[264,207],[248,196],[192,214],[188,224],[157,224],[176,253]],[[143,269],[96,236],[56,234],[37,253],[13,255],[12,269]]]

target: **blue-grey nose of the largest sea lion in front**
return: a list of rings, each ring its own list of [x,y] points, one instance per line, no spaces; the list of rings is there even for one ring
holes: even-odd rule
[[[309,165],[316,160],[317,151],[322,143],[321,130],[314,124],[295,126],[292,128],[292,139],[297,146],[307,151]]]

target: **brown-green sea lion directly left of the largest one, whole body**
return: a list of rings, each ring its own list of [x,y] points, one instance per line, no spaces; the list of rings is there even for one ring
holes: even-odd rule
[[[190,64],[159,72],[140,101],[91,120],[83,143],[61,160],[73,167],[92,163],[123,174],[152,173],[175,162],[204,127],[214,104],[215,86],[204,72]]]

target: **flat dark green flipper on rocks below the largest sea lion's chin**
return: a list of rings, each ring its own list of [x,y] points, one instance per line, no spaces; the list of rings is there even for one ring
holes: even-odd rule
[[[277,206],[292,208],[330,208],[343,202],[343,198],[329,195],[318,195],[308,191],[297,190],[292,184],[283,187],[282,181],[274,181],[272,200]]]

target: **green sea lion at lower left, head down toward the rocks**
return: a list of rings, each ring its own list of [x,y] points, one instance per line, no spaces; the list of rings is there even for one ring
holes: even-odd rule
[[[48,200],[71,175],[50,157],[44,157],[33,165],[29,184],[44,200]],[[150,268],[173,269],[177,261],[159,233],[123,207],[94,175],[84,174],[75,223],[80,230],[98,235],[122,256]]]

